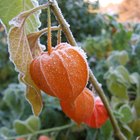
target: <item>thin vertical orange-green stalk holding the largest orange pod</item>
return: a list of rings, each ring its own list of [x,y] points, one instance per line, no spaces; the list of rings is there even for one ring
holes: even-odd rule
[[[51,13],[50,6],[48,6],[48,53],[52,52],[52,36],[51,36]]]

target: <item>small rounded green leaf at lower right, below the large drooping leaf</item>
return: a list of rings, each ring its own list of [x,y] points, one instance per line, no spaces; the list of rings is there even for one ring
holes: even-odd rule
[[[120,120],[122,123],[129,123],[133,120],[133,114],[131,112],[131,108],[128,105],[123,105],[119,109],[119,113],[121,114]]]

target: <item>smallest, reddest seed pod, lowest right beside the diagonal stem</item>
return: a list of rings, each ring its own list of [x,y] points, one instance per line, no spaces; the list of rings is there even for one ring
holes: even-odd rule
[[[92,128],[100,128],[109,118],[107,110],[99,97],[95,97],[95,107],[92,115],[84,122]]]

